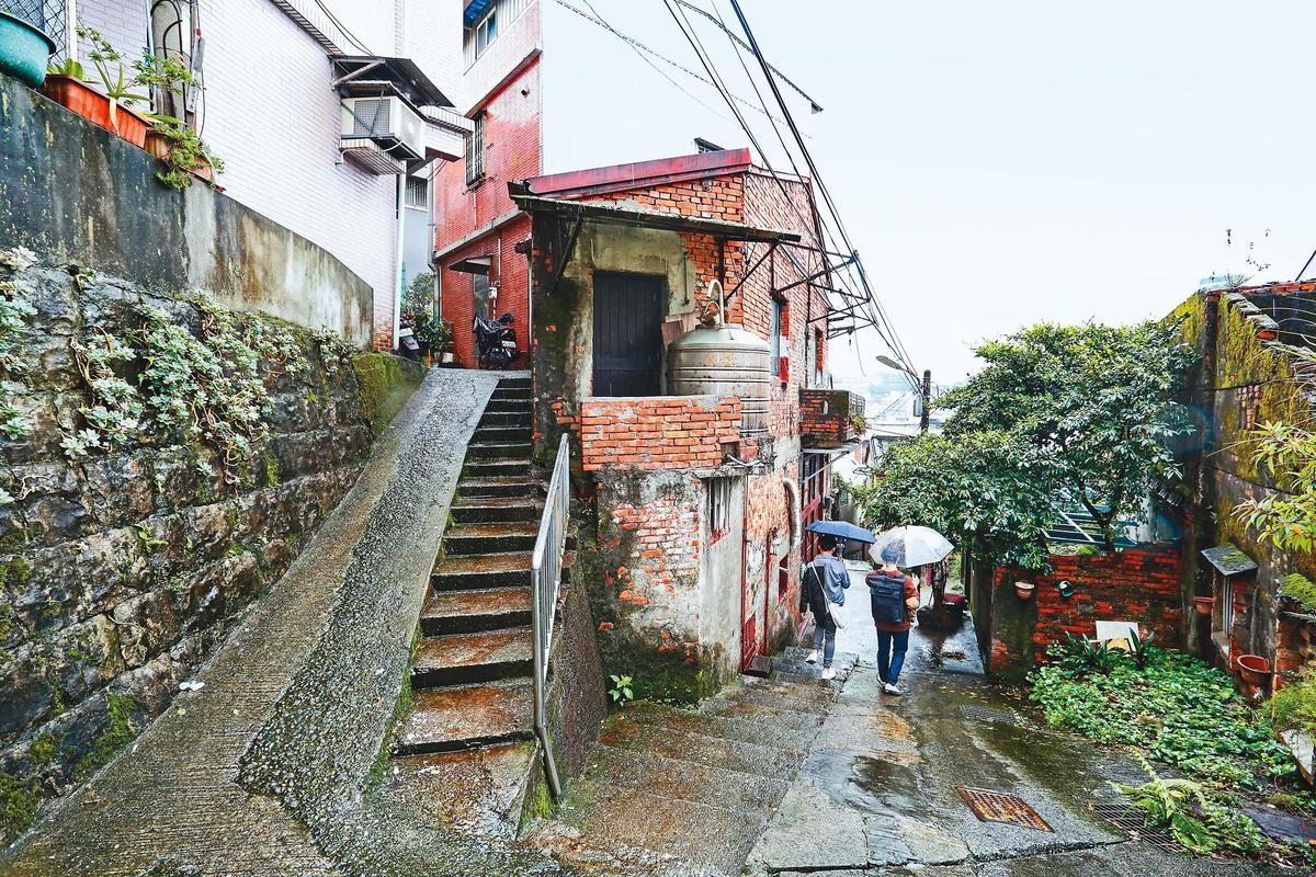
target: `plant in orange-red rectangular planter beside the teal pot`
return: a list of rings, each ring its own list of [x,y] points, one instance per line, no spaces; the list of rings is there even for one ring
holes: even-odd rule
[[[146,141],[146,118],[129,107],[149,101],[136,89],[142,85],[141,71],[146,62],[137,62],[134,75],[124,68],[124,55],[95,28],[78,28],[78,36],[91,43],[88,53],[103,91],[97,92],[86,82],[86,68],[74,58],[46,70],[42,89],[53,101],[71,109],[83,118],[114,131],[133,146]]]

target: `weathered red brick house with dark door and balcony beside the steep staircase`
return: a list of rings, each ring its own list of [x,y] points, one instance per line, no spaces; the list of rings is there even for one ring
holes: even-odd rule
[[[533,217],[536,448],[546,459],[563,433],[579,448],[605,664],[672,697],[762,669],[799,632],[804,511],[819,513],[829,462],[854,438],[849,394],[834,400],[844,423],[812,397],[829,309],[809,181],[772,178],[742,149],[512,192]],[[766,398],[669,387],[670,344],[713,280],[726,322],[762,339]],[[826,415],[804,423],[801,400]]]

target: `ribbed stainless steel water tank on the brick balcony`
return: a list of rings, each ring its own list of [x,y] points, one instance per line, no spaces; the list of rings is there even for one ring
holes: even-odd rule
[[[672,396],[738,396],[741,431],[767,433],[771,348],[744,326],[697,326],[667,347]]]

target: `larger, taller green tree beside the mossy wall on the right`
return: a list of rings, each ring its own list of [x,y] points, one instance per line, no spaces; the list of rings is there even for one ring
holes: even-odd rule
[[[1157,485],[1180,477],[1171,439],[1190,431],[1175,402],[1194,352],[1174,323],[1038,323],[976,350],[986,367],[938,400],[950,440],[1000,433],[1059,502],[1082,505],[1115,551]]]

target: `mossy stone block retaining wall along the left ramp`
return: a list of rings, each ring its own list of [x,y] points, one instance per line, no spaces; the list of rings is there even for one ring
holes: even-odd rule
[[[34,309],[0,343],[13,342],[13,362],[0,363],[11,380],[3,401],[26,425],[14,439],[0,437],[7,843],[41,798],[88,777],[168,706],[351,488],[374,434],[421,375],[259,314],[30,263],[26,254],[0,256],[8,259],[0,300]],[[257,367],[268,404],[245,459],[230,451],[225,460],[204,437],[180,440],[159,426],[139,380],[146,351],[159,344],[143,335],[154,331],[145,329],[150,308],[192,338],[218,313],[284,339],[279,360]],[[108,338],[136,348],[112,368],[146,410],[113,447],[71,455],[70,437],[92,426],[87,351],[107,350]],[[228,379],[242,373],[225,351],[217,367]],[[195,393],[183,387],[176,398]]]

